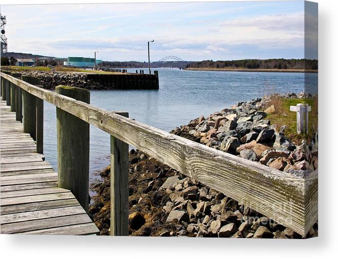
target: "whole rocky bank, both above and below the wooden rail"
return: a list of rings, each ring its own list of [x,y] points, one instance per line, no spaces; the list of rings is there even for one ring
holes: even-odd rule
[[[298,97],[297,95],[295,97]],[[200,116],[171,133],[209,147],[305,177],[318,167],[318,135],[296,146],[266,120],[274,107],[266,98],[241,102]],[[90,208],[101,234],[109,234],[110,168]],[[146,154],[129,153],[129,234],[132,236],[301,238],[257,211],[196,182]],[[307,238],[318,236],[314,224]]]

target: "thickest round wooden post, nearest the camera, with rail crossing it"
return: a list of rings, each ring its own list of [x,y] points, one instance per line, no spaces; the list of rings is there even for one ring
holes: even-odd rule
[[[89,103],[88,90],[59,85],[57,93]],[[58,186],[72,191],[84,210],[89,200],[89,124],[56,108]]]

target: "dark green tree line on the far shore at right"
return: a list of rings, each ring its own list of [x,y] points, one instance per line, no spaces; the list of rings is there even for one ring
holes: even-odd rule
[[[311,69],[318,70],[317,59],[242,59],[204,60],[192,62],[186,68],[247,68],[247,69]]]

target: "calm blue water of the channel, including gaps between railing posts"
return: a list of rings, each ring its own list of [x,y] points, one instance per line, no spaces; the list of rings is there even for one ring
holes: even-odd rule
[[[302,73],[202,72],[158,69],[160,90],[91,90],[91,104],[107,110],[125,110],[129,117],[170,131],[200,115],[209,115],[239,101],[272,92],[301,92]],[[135,73],[135,69],[129,69]],[[145,69],[146,72],[146,69]],[[306,79],[317,84],[318,74]],[[44,103],[44,154],[57,170],[56,108]],[[90,128],[90,171],[109,163],[109,135]]]

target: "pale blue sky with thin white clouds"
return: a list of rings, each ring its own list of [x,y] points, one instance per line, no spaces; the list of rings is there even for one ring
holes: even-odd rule
[[[304,1],[2,5],[9,52],[107,61],[304,58]]]

